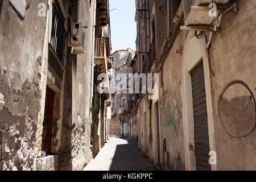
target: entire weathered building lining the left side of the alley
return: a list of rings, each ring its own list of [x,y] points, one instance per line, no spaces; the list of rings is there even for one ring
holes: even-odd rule
[[[110,95],[94,77],[111,67],[108,7],[0,2],[2,170],[81,170],[108,140]]]

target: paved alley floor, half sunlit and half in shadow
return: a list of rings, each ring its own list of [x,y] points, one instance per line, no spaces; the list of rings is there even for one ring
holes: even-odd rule
[[[134,140],[109,138],[84,171],[154,171],[153,165],[137,148]]]

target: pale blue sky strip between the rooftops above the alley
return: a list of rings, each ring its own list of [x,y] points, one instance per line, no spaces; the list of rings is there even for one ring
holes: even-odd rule
[[[137,37],[134,20],[135,0],[109,0],[109,10],[112,53],[119,49],[135,50]]]

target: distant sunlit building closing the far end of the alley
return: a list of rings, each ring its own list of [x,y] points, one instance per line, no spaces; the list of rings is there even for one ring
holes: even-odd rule
[[[127,92],[129,74],[133,72],[130,61],[135,52],[131,48],[115,51],[113,54],[113,75],[111,80],[112,119],[109,123],[109,135],[112,137],[127,137],[126,111],[131,109],[131,94]]]

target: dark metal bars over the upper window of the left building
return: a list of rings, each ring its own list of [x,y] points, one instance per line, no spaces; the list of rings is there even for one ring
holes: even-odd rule
[[[64,41],[65,41],[65,29],[63,26],[63,22],[60,19],[60,14],[57,11],[56,6],[53,6],[52,12],[52,32],[51,32],[51,41],[50,44],[52,48],[56,52],[57,56],[59,56],[61,64],[64,64]]]

